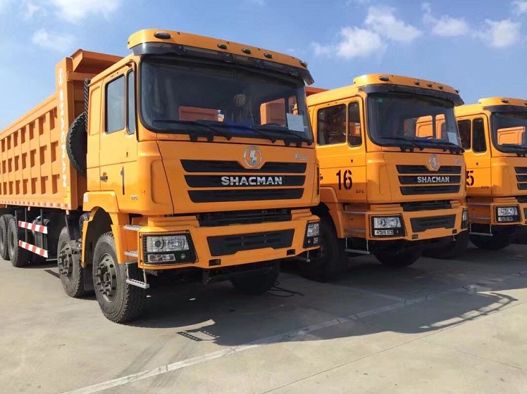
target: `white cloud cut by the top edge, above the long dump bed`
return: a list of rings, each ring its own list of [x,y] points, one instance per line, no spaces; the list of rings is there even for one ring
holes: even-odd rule
[[[88,15],[108,17],[117,10],[122,0],[47,0],[56,9],[58,18],[78,23]]]

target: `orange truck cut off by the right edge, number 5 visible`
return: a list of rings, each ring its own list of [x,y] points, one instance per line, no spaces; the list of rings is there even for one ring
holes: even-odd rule
[[[465,149],[470,239],[498,250],[527,224],[527,100],[490,97],[456,108]]]

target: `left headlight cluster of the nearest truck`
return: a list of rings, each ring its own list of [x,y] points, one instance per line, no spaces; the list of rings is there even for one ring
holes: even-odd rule
[[[196,261],[190,234],[144,236],[144,239],[144,260],[147,264]]]

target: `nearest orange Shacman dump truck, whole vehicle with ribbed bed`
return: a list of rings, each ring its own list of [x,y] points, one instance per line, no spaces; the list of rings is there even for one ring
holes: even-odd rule
[[[56,257],[66,293],[95,290],[113,322],[140,315],[149,274],[268,290],[318,245],[306,64],[182,32],[128,48],[63,59],[56,92],[0,133],[1,257]]]

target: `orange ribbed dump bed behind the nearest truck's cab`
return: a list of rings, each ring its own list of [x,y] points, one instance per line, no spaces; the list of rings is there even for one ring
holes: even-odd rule
[[[0,204],[82,205],[86,179],[70,164],[68,128],[84,110],[85,80],[120,59],[81,49],[64,58],[56,65],[54,94],[0,132]]]

